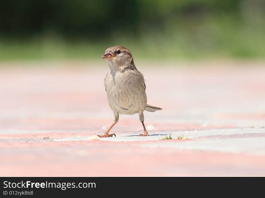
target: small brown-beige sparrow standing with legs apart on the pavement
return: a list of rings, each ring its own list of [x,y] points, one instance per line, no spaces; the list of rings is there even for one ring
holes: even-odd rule
[[[138,113],[144,133],[139,136],[149,136],[144,124],[144,111],[155,112],[162,108],[146,104],[145,80],[137,70],[132,53],[123,46],[113,46],[106,49],[102,58],[107,60],[110,71],[104,79],[108,103],[114,113],[114,122],[109,129],[98,137],[116,137],[109,131],[119,121],[120,114],[133,115]]]

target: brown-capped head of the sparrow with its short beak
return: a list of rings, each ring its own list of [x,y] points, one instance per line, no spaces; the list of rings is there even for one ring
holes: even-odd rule
[[[132,53],[123,46],[113,46],[106,49],[102,58],[106,59],[108,64],[117,67],[127,66],[133,60]]]

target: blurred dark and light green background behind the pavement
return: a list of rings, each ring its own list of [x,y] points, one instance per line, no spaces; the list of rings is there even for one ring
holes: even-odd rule
[[[0,60],[264,59],[264,0],[1,0]]]

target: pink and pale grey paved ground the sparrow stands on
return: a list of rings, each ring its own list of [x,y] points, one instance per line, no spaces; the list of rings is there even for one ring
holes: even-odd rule
[[[104,61],[0,63],[0,176],[265,176],[265,62],[157,64],[136,61],[163,108],[145,112],[151,136],[121,115],[100,139]]]

